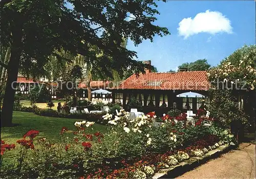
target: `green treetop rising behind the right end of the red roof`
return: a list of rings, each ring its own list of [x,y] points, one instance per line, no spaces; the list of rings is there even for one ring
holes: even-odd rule
[[[178,68],[179,70],[181,68],[187,68],[189,71],[206,71],[210,68],[210,64],[208,64],[206,59],[201,59],[190,63],[182,63]]]

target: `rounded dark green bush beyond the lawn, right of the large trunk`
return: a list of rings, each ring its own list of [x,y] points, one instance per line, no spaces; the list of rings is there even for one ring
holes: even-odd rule
[[[33,106],[34,103],[38,102],[48,102],[51,100],[51,95],[48,89],[45,85],[41,86],[36,85],[33,89],[29,92],[29,100],[31,103],[31,106]]]

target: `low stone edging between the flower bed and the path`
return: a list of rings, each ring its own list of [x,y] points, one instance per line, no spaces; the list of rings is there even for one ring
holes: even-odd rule
[[[214,150],[210,150],[202,157],[193,156],[188,160],[185,160],[178,165],[172,166],[166,169],[160,169],[155,175],[152,177],[154,179],[157,178],[175,178],[184,174],[187,171],[193,170],[194,168],[206,163],[211,159],[218,158],[221,154],[226,153],[227,151],[235,148],[233,145],[221,145]]]

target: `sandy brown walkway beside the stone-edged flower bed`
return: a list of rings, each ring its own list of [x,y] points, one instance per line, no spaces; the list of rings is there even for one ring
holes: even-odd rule
[[[231,150],[178,178],[255,178],[255,170],[255,145],[242,143],[238,150]]]

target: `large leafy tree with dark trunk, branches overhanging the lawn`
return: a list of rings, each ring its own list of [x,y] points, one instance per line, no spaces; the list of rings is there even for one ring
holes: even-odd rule
[[[72,9],[68,8],[67,2]],[[2,0],[0,7],[1,42],[3,46],[10,44],[11,47],[8,65],[2,64],[8,71],[2,126],[12,126],[15,95],[12,82],[16,81],[18,70],[27,76],[45,75],[43,66],[54,49],[63,48],[86,56],[93,68],[99,67],[111,76],[110,69],[121,73],[133,66],[139,72],[145,67],[134,60],[136,52],[120,46],[122,37],[131,39],[137,46],[142,39],[153,41],[155,34],[169,34],[166,28],[153,25],[157,19],[154,15],[159,14],[154,8],[157,7],[154,0]],[[135,18],[127,21],[129,13]],[[92,46],[103,55],[96,57],[91,53]]]

